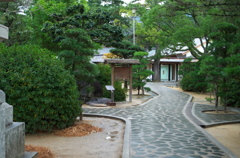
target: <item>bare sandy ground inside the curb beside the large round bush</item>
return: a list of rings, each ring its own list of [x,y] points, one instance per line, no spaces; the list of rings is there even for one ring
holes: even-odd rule
[[[81,123],[88,126],[89,135],[58,136],[54,133],[26,134],[25,144],[48,148],[57,158],[119,158],[122,154],[125,125],[122,121],[84,117]],[[74,133],[76,130],[73,130]],[[101,132],[95,131],[102,129]],[[70,130],[70,131],[71,131]],[[95,130],[95,131],[94,131]],[[69,134],[68,134],[69,135]],[[51,158],[51,157],[44,157]]]

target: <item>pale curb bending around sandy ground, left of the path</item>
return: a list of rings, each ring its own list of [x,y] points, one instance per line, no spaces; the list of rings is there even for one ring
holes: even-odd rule
[[[83,116],[85,116],[85,117],[104,117],[104,118],[117,119],[117,120],[120,120],[122,122],[125,122],[122,158],[130,158],[130,137],[131,137],[131,121],[130,120],[125,119],[123,117],[116,117],[116,116],[110,116],[110,115],[100,115],[100,114],[84,113]]]

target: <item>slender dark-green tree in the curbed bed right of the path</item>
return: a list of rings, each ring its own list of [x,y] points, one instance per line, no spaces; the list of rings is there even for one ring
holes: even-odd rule
[[[233,74],[238,74],[238,71],[232,69],[233,65],[234,67],[237,66],[235,64],[238,64],[238,62],[231,60],[232,57],[237,57],[239,53],[237,31],[238,27],[233,24],[226,22],[217,24],[215,31],[210,35],[213,40],[211,56],[202,61],[200,73],[206,74],[207,80],[215,87],[216,110],[219,97],[224,104],[224,110],[227,110],[228,99],[232,97],[229,95],[229,87],[233,83],[238,83],[236,78],[231,78],[232,75],[230,75],[231,71],[233,71]],[[237,101],[238,98],[235,98],[235,100]]]

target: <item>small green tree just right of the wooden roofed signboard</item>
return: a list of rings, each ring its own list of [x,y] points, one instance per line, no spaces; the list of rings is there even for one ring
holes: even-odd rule
[[[147,70],[146,66],[149,63],[147,58],[147,52],[136,52],[134,53],[134,59],[139,59],[139,65],[133,65],[133,88],[138,90],[138,95],[140,94],[140,90],[142,91],[142,95],[144,95],[144,90],[151,91],[149,87],[144,87],[147,82],[147,77],[152,75],[153,72],[151,70]]]

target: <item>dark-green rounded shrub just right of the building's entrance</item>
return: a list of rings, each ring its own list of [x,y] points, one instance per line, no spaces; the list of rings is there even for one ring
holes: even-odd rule
[[[191,58],[184,60],[180,67],[179,74],[183,76],[180,86],[184,91],[205,92],[207,90],[207,82],[204,75],[200,75],[200,62],[193,63]]]

